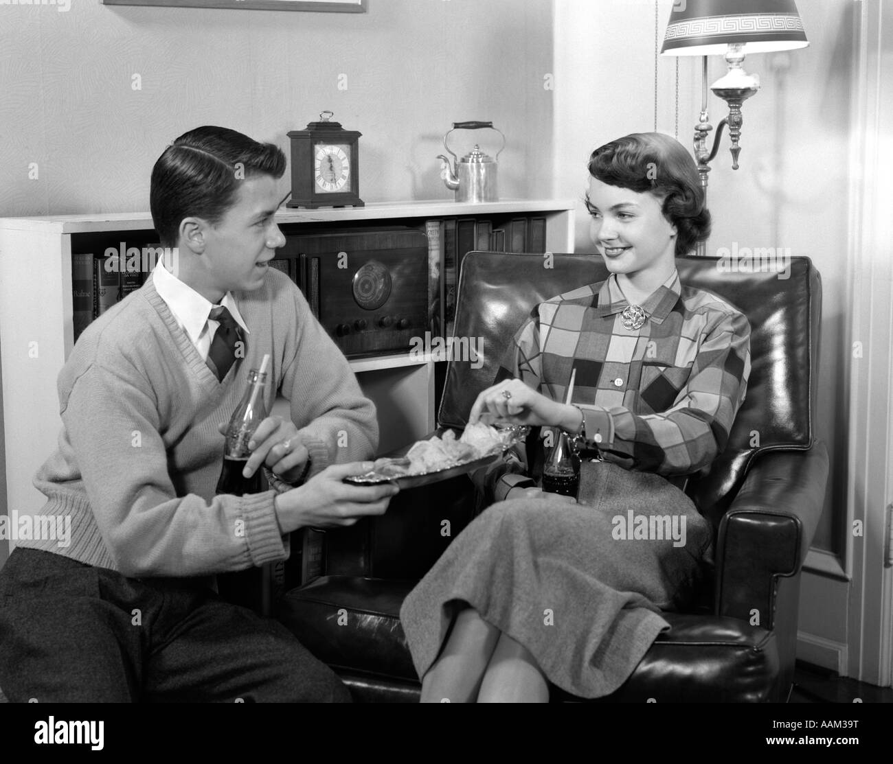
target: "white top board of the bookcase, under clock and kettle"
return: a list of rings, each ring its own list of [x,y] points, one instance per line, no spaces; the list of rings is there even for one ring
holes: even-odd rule
[[[395,218],[444,218],[464,215],[498,215],[514,212],[567,212],[574,210],[573,199],[506,199],[502,202],[470,203],[449,201],[375,202],[365,207],[276,212],[277,223],[340,223],[350,220],[393,220]],[[151,230],[149,212],[104,212],[92,215],[46,215],[34,218],[0,218],[0,228],[54,234],[101,233],[103,231]]]

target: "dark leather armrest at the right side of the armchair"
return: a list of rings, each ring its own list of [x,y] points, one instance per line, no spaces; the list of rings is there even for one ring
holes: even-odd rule
[[[822,515],[828,450],[764,453],[720,523],[716,539],[717,615],[772,628],[777,578],[796,576]]]

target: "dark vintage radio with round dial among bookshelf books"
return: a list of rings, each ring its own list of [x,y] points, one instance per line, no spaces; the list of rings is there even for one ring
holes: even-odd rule
[[[422,231],[341,229],[287,239],[298,286],[347,357],[399,353],[413,337],[425,336],[428,237]]]

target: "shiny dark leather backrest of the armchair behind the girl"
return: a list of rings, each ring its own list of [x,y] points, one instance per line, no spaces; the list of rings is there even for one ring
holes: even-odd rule
[[[482,363],[468,356],[450,361],[441,427],[465,426],[472,403],[493,383],[514,333],[537,303],[610,275],[595,254],[555,254],[553,267],[546,264],[542,254],[472,252],[463,258],[454,337],[477,342]],[[676,266],[683,284],[721,296],[751,327],[747,398],[725,451],[686,488],[715,527],[756,454],[813,444],[822,282],[808,257],[791,257],[782,272],[729,272],[720,258],[695,255],[676,258]]]

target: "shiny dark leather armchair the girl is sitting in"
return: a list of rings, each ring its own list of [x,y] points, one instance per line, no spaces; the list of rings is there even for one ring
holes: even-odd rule
[[[607,278],[597,255],[469,253],[456,336],[481,337],[478,370],[451,361],[438,413],[463,428],[502,349],[535,303]],[[683,284],[713,291],[752,328],[747,399],[729,444],[685,491],[711,521],[714,576],[685,612],[668,612],[628,681],[601,702],[784,702],[797,646],[800,571],[822,512],[827,450],[814,439],[822,286],[805,257],[784,273],[728,273],[681,257]],[[326,575],[288,592],[279,618],[344,679],[358,701],[412,702],[421,685],[398,613],[405,595],[478,511],[455,477],[398,494],[388,513],[327,534]],[[444,535],[449,520],[449,535]],[[554,701],[578,700],[553,688]]]

